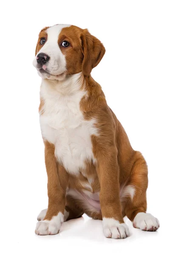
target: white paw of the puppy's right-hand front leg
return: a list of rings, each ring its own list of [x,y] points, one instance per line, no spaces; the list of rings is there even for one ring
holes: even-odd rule
[[[103,233],[108,238],[122,239],[129,236],[129,228],[113,218],[103,218]]]

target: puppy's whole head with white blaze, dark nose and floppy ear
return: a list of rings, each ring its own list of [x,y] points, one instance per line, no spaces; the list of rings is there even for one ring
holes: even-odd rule
[[[33,65],[43,79],[64,80],[81,71],[88,76],[104,54],[105,47],[87,29],[59,24],[41,30]]]

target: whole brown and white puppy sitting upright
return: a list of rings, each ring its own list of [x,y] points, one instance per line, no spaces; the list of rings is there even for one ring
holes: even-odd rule
[[[91,77],[105,48],[87,29],[55,25],[41,30],[34,67],[42,77],[40,126],[48,175],[48,209],[35,233],[54,235],[62,222],[86,213],[103,223],[105,237],[129,235],[133,227],[156,231],[146,213],[147,164],[108,107]]]

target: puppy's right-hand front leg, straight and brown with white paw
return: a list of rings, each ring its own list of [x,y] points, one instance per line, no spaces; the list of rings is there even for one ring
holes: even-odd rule
[[[108,238],[126,238],[129,231],[123,221],[121,212],[117,149],[112,146],[103,151],[101,147],[100,149],[98,148],[96,153],[96,170],[100,182],[99,198],[103,219],[103,232]]]

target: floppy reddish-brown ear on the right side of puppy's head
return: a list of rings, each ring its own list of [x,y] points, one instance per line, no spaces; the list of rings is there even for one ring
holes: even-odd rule
[[[82,52],[84,55],[82,61],[82,73],[85,76],[88,76],[90,75],[91,70],[96,67],[103,58],[105,47],[99,39],[88,32],[88,29],[83,29],[81,40]]]

